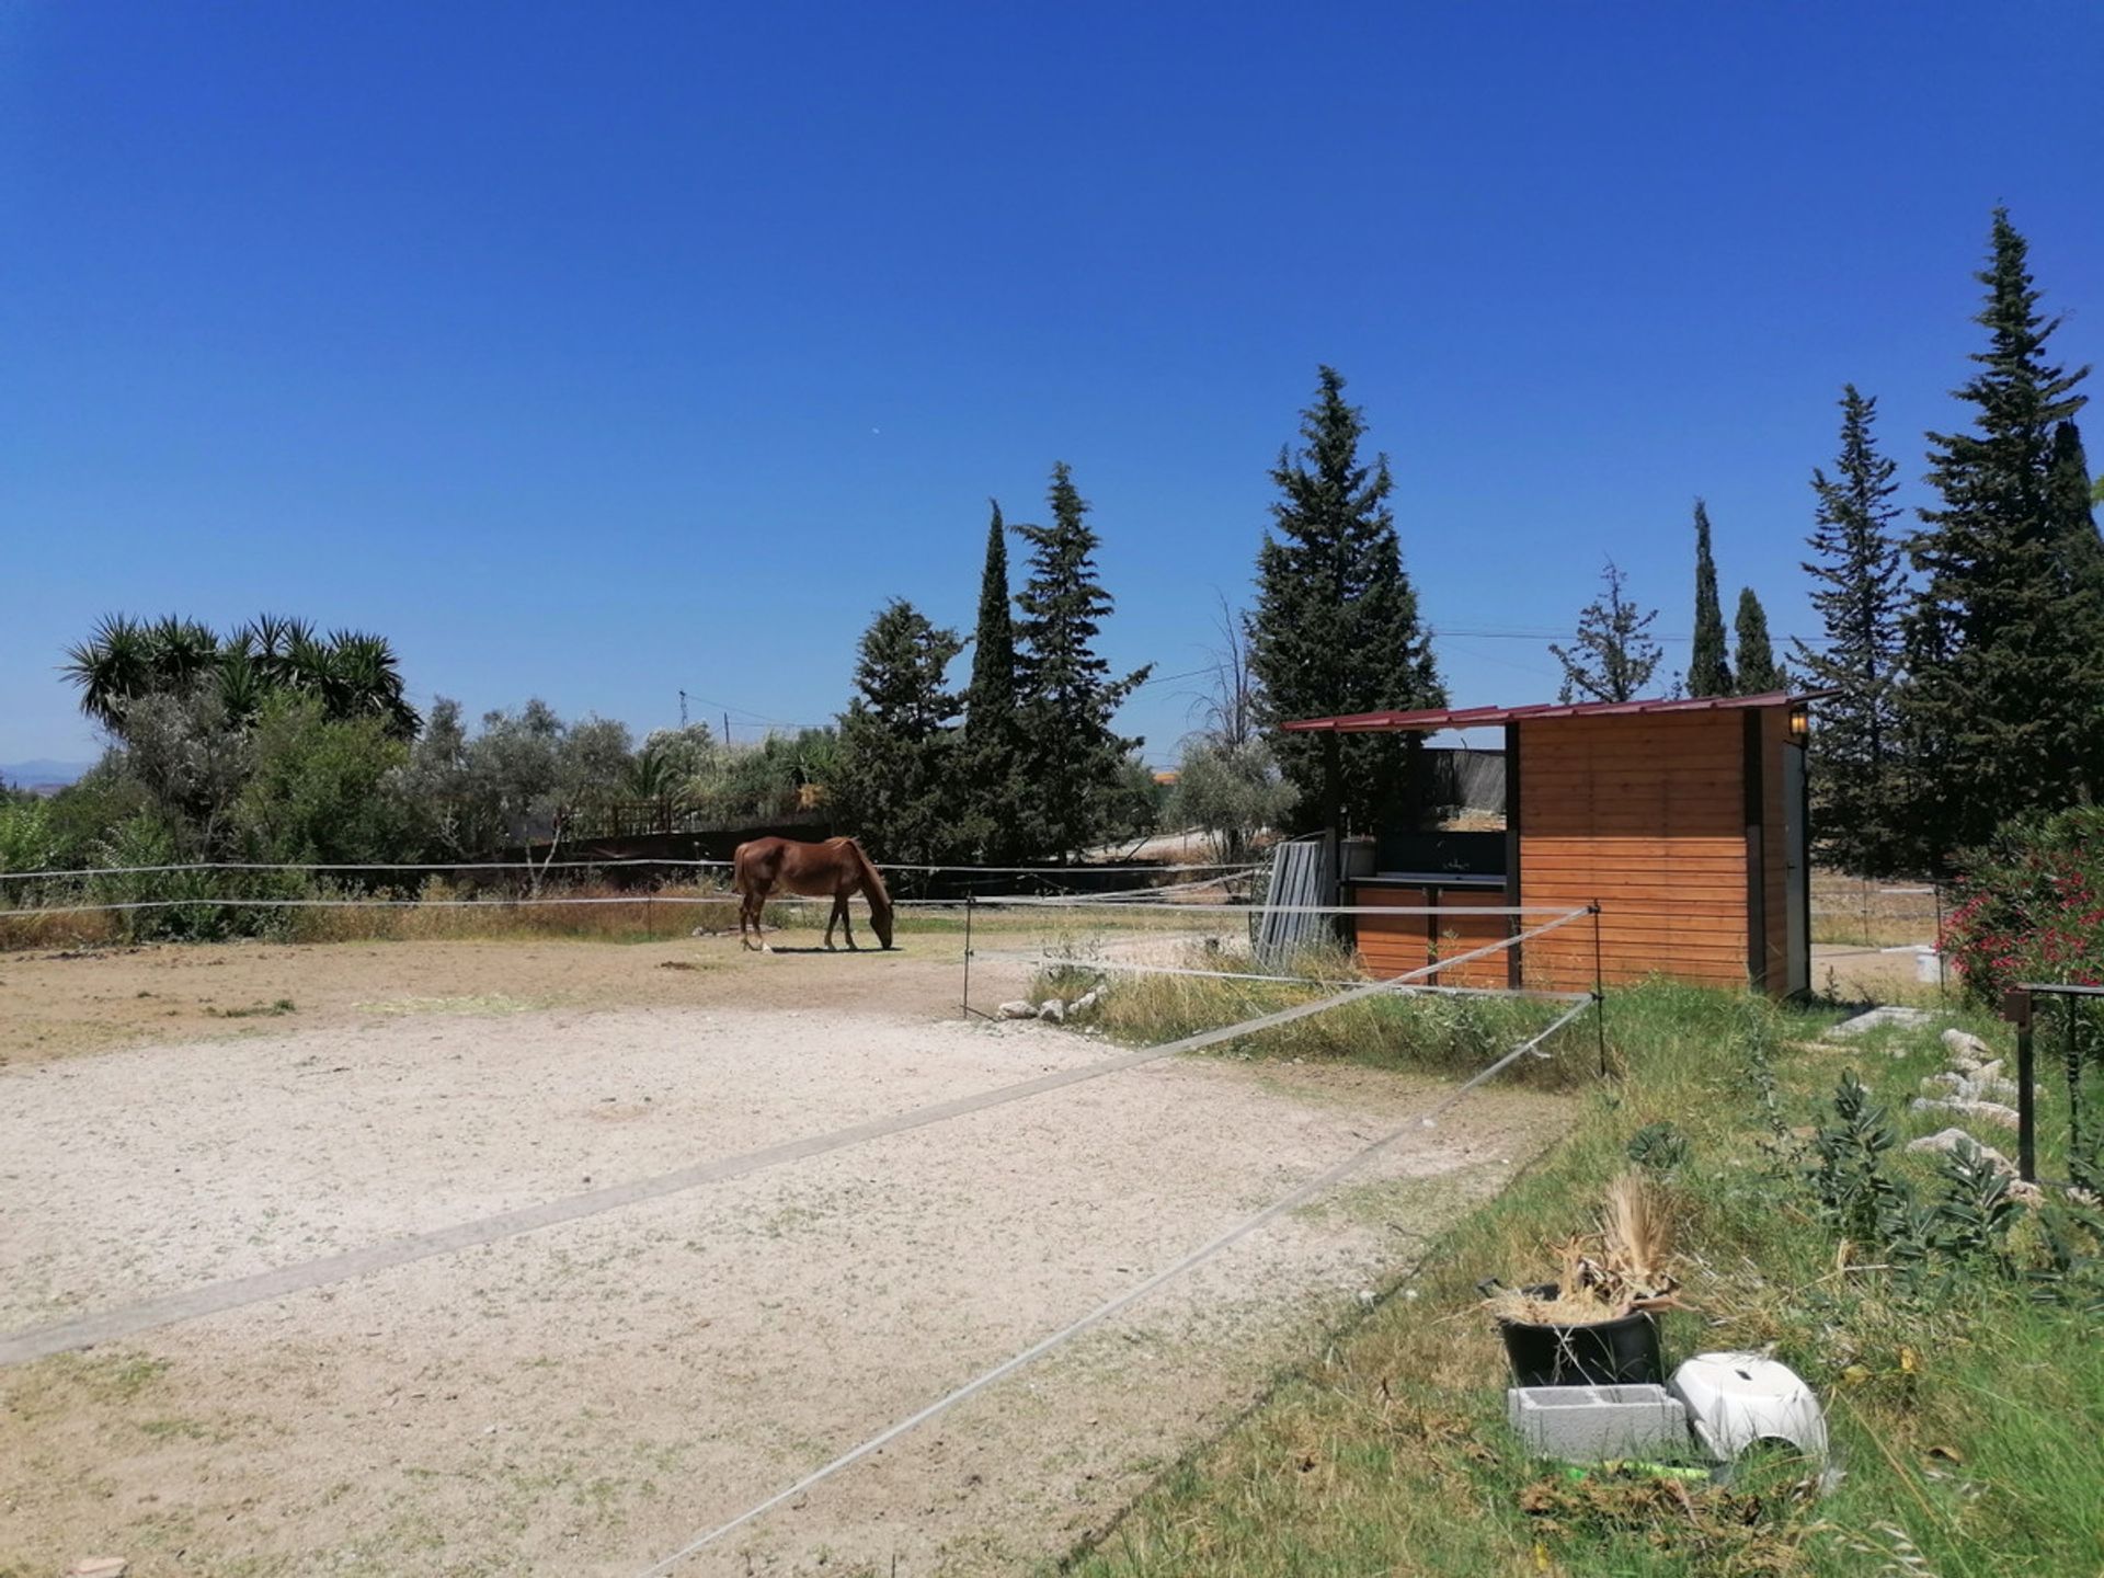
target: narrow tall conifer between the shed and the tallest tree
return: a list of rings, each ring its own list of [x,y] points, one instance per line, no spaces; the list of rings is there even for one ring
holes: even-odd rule
[[[1797,642],[1797,665],[1814,690],[1833,690],[1812,734],[1816,827],[1830,858],[1866,875],[1898,869],[1898,680],[1906,570],[1891,528],[1898,465],[1877,452],[1877,400],[1841,389],[1841,452],[1835,476],[1814,467],[1818,515],[1805,539],[1818,583],[1812,606],[1826,629],[1820,648]]]

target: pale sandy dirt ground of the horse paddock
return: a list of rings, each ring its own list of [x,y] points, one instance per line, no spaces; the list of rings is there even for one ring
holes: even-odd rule
[[[677,968],[669,968],[677,966]],[[974,1002],[1020,968],[974,968]],[[19,1332],[1105,1056],[957,940],[0,959]],[[985,993],[985,997],[983,997]],[[280,1008],[290,1004],[290,1008]],[[1439,1090],[1178,1058],[0,1370],[0,1574],[638,1574]],[[680,1572],[1016,1572],[1100,1528],[1561,1126],[1488,1088]]]

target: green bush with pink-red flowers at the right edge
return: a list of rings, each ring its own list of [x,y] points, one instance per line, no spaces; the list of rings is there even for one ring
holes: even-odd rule
[[[2018,980],[2104,983],[2104,806],[2009,823],[1965,856],[1942,947],[1988,1004]]]

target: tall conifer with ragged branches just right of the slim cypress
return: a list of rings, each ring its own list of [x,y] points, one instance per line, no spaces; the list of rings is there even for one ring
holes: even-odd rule
[[[1111,665],[1096,656],[1113,602],[1096,579],[1098,539],[1065,461],[1052,467],[1050,505],[1050,526],[1016,526],[1031,545],[1031,574],[1016,595],[1016,827],[1031,852],[1073,856],[1119,814],[1126,757],[1142,741],[1115,734],[1111,717],[1147,669],[1113,680]]]

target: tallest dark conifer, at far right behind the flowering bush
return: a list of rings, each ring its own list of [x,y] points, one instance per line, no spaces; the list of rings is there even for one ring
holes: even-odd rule
[[[2039,313],[2028,246],[1995,210],[1992,255],[1976,276],[1988,288],[1976,322],[1988,349],[1957,391],[1976,406],[1974,431],[1929,433],[1929,482],[1910,543],[1923,576],[1908,629],[1902,705],[1919,854],[1944,863],[2026,810],[2051,810],[2089,791],[2096,724],[2104,715],[2093,646],[2100,593],[2070,574],[2066,511],[2056,509],[2054,433],[2075,417],[2087,368],[2045,356],[2058,318]]]

